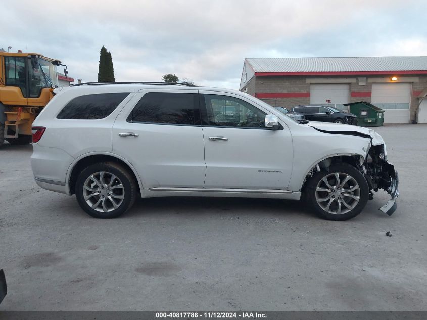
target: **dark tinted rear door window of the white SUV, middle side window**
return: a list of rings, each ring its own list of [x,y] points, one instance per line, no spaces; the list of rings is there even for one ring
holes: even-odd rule
[[[133,108],[128,122],[200,125],[197,94],[150,92]]]

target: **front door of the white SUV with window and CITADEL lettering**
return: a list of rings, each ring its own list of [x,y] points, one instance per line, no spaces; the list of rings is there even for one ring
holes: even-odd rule
[[[264,127],[268,110],[242,96],[199,91],[205,140],[205,188],[286,190],[291,133]]]

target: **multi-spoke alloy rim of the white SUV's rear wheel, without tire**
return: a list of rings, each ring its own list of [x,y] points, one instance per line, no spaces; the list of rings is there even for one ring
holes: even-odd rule
[[[92,209],[110,212],[122,204],[124,187],[114,174],[100,171],[84,181],[83,198]]]

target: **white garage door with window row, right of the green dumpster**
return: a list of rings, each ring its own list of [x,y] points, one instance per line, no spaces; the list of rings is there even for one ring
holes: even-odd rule
[[[410,83],[372,83],[372,104],[384,109],[384,123],[409,123]]]

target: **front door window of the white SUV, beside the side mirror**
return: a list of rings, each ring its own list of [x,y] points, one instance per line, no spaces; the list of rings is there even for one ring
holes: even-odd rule
[[[266,113],[238,98],[204,95],[207,123],[212,126],[263,128]]]

